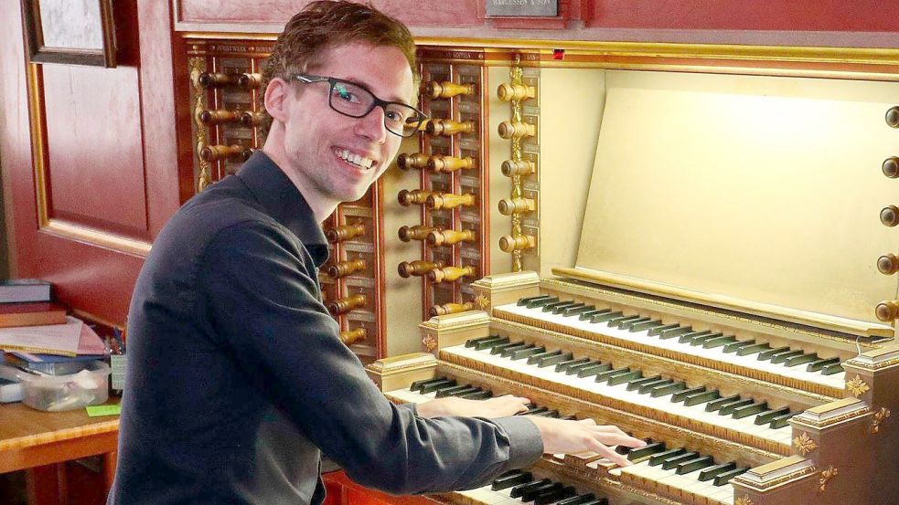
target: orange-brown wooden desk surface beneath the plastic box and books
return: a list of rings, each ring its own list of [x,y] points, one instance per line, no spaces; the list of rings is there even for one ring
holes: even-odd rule
[[[117,402],[117,398],[111,398]],[[115,452],[119,417],[0,405],[0,473]]]

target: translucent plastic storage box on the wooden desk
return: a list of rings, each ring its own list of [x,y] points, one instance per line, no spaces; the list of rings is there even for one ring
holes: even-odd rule
[[[100,405],[109,397],[109,365],[93,362],[70,375],[33,375],[19,372],[22,402],[37,410],[59,412]]]

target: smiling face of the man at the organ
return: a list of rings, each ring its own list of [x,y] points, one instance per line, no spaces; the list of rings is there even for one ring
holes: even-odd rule
[[[346,44],[326,50],[319,60],[324,63],[310,68],[309,74],[358,83],[381,100],[412,103],[412,69],[396,47]],[[358,200],[396,156],[401,137],[384,127],[380,107],[362,118],[332,110],[327,82],[292,86],[302,89],[286,99],[284,151],[289,166],[282,168],[293,172],[307,200],[326,205]],[[359,161],[355,156],[369,167],[352,163]]]

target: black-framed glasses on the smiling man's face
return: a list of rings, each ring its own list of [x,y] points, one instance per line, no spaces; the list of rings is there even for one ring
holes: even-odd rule
[[[412,137],[428,117],[411,105],[398,101],[380,100],[368,89],[348,80],[308,74],[294,74],[291,79],[300,82],[327,82],[331,89],[327,104],[331,109],[351,118],[363,118],[380,107],[384,110],[384,126],[388,132],[401,137]]]

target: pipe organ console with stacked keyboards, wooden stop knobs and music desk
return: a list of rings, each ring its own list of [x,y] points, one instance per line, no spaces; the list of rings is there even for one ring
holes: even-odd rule
[[[270,41],[194,37],[182,143],[213,182],[261,145]],[[420,48],[431,120],[325,223],[341,340],[396,402],[526,395],[647,440],[434,501],[899,496],[899,63],[692,49]]]

